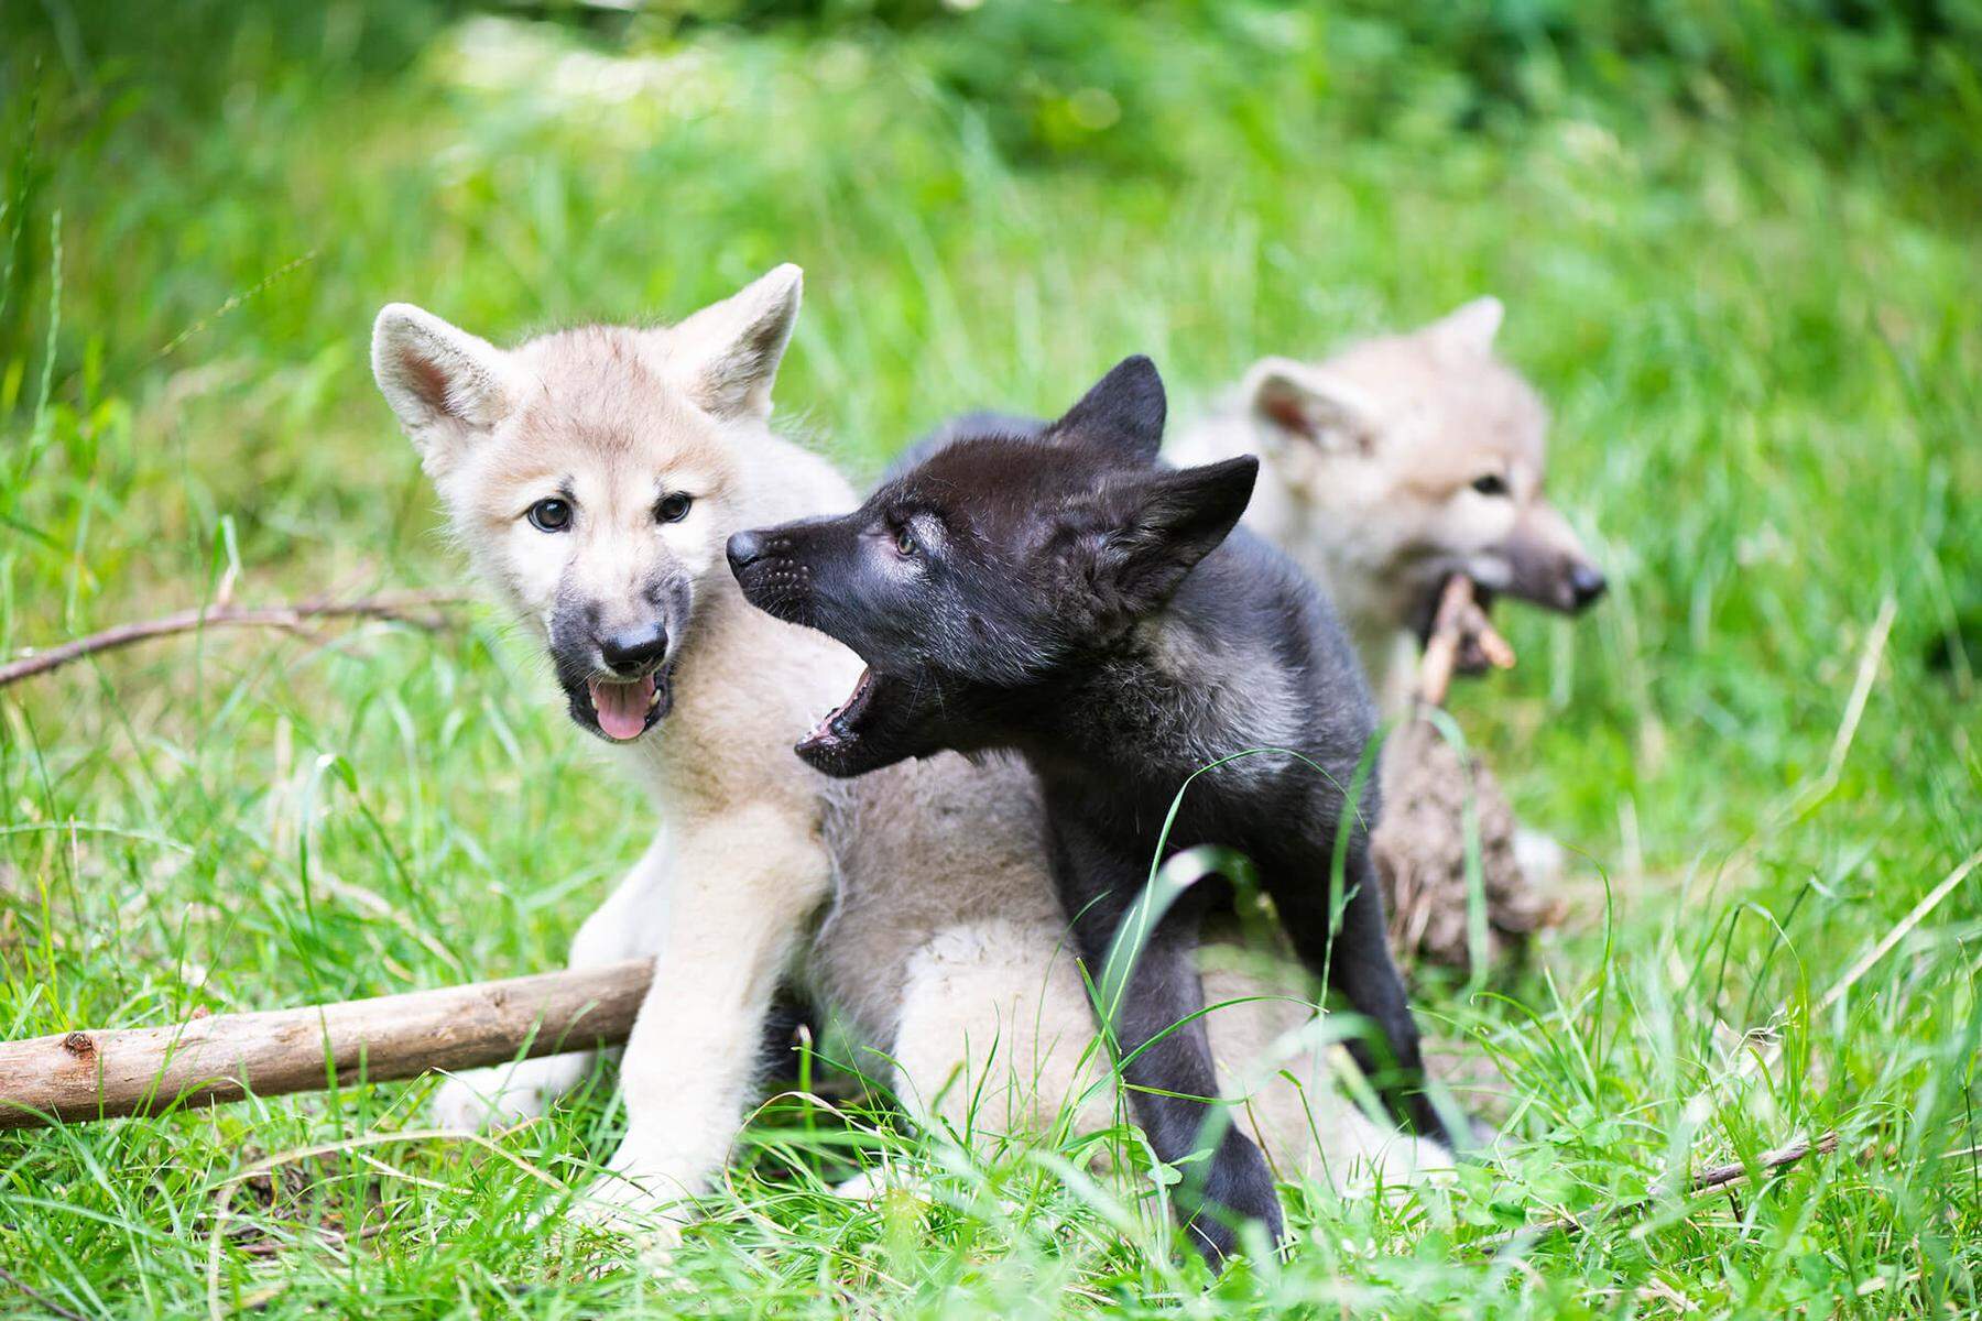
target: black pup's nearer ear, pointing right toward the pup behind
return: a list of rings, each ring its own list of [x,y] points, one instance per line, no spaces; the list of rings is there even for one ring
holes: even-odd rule
[[[1247,454],[1203,467],[1154,471],[1122,489],[1096,584],[1128,618],[1161,608],[1183,574],[1231,535],[1253,499],[1255,477],[1259,459]]]

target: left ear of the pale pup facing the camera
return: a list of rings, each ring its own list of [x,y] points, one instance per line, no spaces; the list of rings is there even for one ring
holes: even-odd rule
[[[507,355],[412,303],[373,323],[373,376],[422,456],[442,456],[509,414]]]

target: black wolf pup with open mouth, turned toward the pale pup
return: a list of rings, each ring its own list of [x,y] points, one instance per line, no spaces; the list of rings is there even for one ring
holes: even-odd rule
[[[1376,727],[1356,656],[1320,592],[1233,531],[1259,461],[1161,467],[1163,414],[1156,366],[1128,358],[1058,422],[965,420],[854,513],[731,537],[753,604],[868,665],[797,753],[852,776],[943,749],[1019,751],[1041,778],[1052,873],[1096,978],[1185,776],[1247,749],[1298,753],[1201,776],[1167,848],[1253,860],[1302,961],[1376,1024],[1393,1067],[1358,1058],[1421,1131],[1443,1135],[1415,1091],[1417,1028],[1370,871],[1374,792],[1360,810],[1346,802]],[[1338,836],[1350,897],[1330,951]],[[1156,927],[1114,1024],[1163,1161],[1201,1145],[1205,1097],[1219,1095],[1191,1018],[1213,903],[1229,903],[1229,885],[1193,887]],[[1213,1266],[1241,1216],[1278,1238],[1266,1163],[1235,1127],[1187,1200]]]

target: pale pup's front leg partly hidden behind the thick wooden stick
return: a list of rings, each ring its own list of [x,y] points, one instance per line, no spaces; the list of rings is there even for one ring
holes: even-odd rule
[[[668,832],[662,828],[640,862],[571,941],[569,966],[597,968],[654,953],[668,883]],[[507,1127],[535,1119],[561,1095],[585,1081],[595,1054],[517,1060],[452,1075],[434,1093],[434,1119],[450,1129]]]

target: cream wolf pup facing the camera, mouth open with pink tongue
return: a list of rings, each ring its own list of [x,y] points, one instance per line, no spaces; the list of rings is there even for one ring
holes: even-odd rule
[[[959,1131],[1037,1131],[1092,1060],[1031,776],[945,755],[848,784],[791,751],[860,661],[751,608],[723,543],[856,503],[767,426],[799,289],[787,265],[674,327],[513,351],[402,303],[373,333],[379,386],[454,537],[543,644],[571,719],[662,818],[571,949],[575,966],[656,959],[605,1212],[700,1192],[721,1167],[781,978],[882,1052],[876,1071],[912,1111]],[[1278,986],[1272,968],[1207,970],[1213,1002]],[[1342,1180],[1441,1163],[1340,1099],[1296,1040],[1308,1018],[1290,998],[1211,1016],[1227,1093],[1276,1165]],[[438,1107],[450,1123],[521,1119],[587,1069],[567,1054],[466,1073]]]

